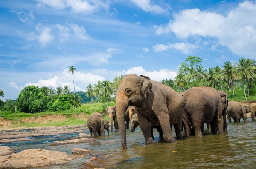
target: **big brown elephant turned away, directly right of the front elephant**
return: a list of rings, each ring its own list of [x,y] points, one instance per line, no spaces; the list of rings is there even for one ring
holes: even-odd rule
[[[202,137],[202,125],[210,123],[213,134],[227,131],[226,111],[228,96],[226,92],[210,87],[193,87],[182,97],[185,133],[189,137],[192,129],[196,137]]]

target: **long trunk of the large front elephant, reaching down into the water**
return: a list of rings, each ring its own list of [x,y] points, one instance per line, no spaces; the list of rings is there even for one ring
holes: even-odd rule
[[[116,96],[116,115],[119,123],[121,147],[127,149],[126,128],[125,128],[125,112],[128,108],[128,98],[123,91],[118,91]]]

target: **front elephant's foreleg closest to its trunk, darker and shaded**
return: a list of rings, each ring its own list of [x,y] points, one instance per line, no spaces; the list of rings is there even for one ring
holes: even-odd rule
[[[140,113],[138,113],[138,121],[140,124],[140,129],[144,135],[146,144],[153,144],[154,141],[153,141],[153,138],[151,135],[150,124],[149,124],[148,118],[145,118],[142,115],[140,115]]]

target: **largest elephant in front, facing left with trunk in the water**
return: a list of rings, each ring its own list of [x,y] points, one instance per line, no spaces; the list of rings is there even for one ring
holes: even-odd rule
[[[169,86],[150,80],[147,76],[129,74],[120,81],[116,95],[122,149],[127,149],[125,111],[128,106],[137,108],[138,121],[146,144],[154,143],[150,124],[161,126],[166,142],[176,143],[171,125],[174,125],[177,139],[182,137],[182,96]]]

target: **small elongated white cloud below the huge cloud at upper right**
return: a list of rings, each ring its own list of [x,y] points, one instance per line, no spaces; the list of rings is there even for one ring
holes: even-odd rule
[[[180,50],[180,52],[182,52],[184,54],[189,54],[192,52],[192,50],[197,49],[198,45],[181,42],[181,43],[174,43],[174,44],[169,44],[169,45],[157,44],[157,45],[153,46],[154,52],[162,52],[162,51],[166,51],[166,50],[169,50],[172,48]]]

